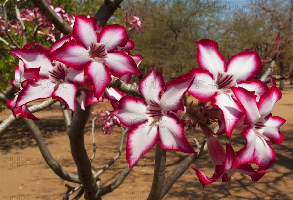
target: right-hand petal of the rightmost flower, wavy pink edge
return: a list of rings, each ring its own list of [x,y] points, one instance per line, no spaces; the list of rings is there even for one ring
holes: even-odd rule
[[[268,116],[262,127],[263,135],[270,139],[274,144],[281,144],[284,140],[284,135],[280,133],[280,127],[286,122],[278,116]]]

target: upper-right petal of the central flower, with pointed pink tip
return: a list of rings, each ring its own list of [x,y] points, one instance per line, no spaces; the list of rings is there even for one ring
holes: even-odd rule
[[[172,80],[165,85],[164,94],[160,100],[160,104],[165,111],[177,112],[184,110],[183,96],[190,88],[193,79]]]

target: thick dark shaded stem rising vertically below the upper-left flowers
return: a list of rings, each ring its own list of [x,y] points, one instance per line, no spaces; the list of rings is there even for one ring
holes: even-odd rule
[[[84,146],[84,127],[90,113],[90,106],[83,111],[76,106],[76,111],[69,127],[68,136],[70,140],[71,154],[77,166],[79,179],[83,184],[86,200],[99,200],[97,197],[98,186],[92,174],[90,160]]]

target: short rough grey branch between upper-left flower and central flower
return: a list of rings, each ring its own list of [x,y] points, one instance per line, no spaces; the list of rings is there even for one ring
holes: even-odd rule
[[[119,78],[116,77],[112,78],[112,81],[111,83],[109,83],[108,87],[116,88],[128,95],[143,98],[143,96],[139,93],[137,86],[121,81]]]

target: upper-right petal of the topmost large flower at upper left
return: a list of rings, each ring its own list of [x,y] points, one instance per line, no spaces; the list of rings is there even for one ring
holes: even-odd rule
[[[112,52],[117,47],[124,47],[129,38],[124,26],[118,24],[107,25],[100,32],[99,43],[105,45],[107,52]]]

